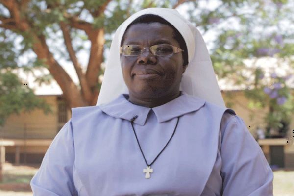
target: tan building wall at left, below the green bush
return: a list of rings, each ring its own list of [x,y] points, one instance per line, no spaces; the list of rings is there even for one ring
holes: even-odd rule
[[[51,106],[52,112],[44,114],[36,109],[30,113],[11,115],[0,129],[0,138],[3,139],[53,139],[59,131],[57,95],[39,96]],[[60,99],[60,98],[59,98]],[[68,120],[71,110],[67,111]],[[40,163],[49,145],[21,146],[20,162]],[[15,146],[6,147],[6,160],[15,161]]]

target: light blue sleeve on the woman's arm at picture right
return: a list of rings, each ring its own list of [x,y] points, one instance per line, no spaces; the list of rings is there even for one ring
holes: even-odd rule
[[[241,118],[221,122],[222,196],[273,196],[273,172]]]

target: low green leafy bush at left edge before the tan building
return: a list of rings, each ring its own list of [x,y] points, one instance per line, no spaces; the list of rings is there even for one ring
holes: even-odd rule
[[[17,67],[17,52],[13,50],[7,52],[5,48],[13,48],[12,38],[5,37],[0,42],[2,54],[0,55],[0,127],[11,114],[19,114],[21,111],[29,112],[36,108],[43,109],[45,113],[51,111],[50,106],[44,100],[37,98],[28,88],[27,83],[13,72]]]

